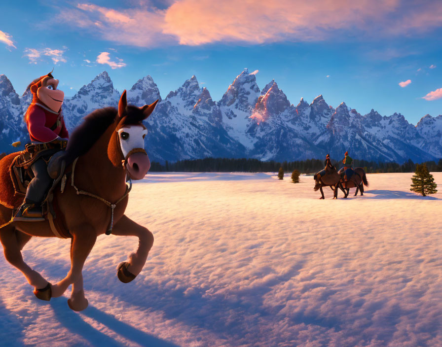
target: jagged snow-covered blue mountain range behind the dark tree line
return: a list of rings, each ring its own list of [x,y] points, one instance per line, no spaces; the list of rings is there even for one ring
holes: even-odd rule
[[[104,71],[66,98],[63,112],[68,129],[96,108],[117,106],[120,93]],[[259,89],[255,74],[244,69],[219,102],[196,77],[184,81],[162,99],[151,76],[139,79],[127,92],[128,103],[142,106],[160,100],[147,119],[146,137],[151,160],[164,162],[212,157],[253,157],[261,160],[339,159],[345,150],[354,158],[415,162],[442,157],[442,116],[426,115],[417,126],[401,114],[381,116],[374,110],[359,114],[345,103],[336,109],[322,95],[295,106],[272,80]],[[6,76],[0,75],[0,150],[28,139],[22,121],[29,93],[18,97]]]

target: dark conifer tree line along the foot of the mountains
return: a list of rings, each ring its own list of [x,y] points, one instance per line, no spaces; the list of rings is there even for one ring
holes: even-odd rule
[[[342,166],[333,162],[336,169]],[[416,164],[408,160],[404,164],[398,163],[377,163],[367,160],[353,160],[355,168],[364,168],[368,174],[371,173],[411,173],[416,171]],[[442,172],[442,159],[425,162],[430,172]],[[179,160],[177,162],[164,164],[152,162],[150,171],[152,172],[278,172],[280,168],[284,172],[298,170],[301,174],[317,173],[324,169],[324,160],[307,159],[293,162],[260,161],[258,159],[231,159],[231,158],[204,158]]]

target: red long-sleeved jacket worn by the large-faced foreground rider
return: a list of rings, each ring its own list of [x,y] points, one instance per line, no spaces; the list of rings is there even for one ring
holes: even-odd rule
[[[26,124],[32,141],[50,142],[58,136],[68,139],[62,110],[53,112],[40,104],[31,104],[25,114]]]

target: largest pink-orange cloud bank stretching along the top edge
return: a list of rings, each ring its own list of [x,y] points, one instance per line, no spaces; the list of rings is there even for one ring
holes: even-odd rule
[[[442,26],[442,6],[437,1],[405,2],[255,0],[250,6],[249,1],[237,0],[176,0],[161,9],[141,1],[138,7],[118,10],[79,3],[74,9],[62,9],[59,20],[109,41],[141,47],[323,41],[347,34],[396,37]]]

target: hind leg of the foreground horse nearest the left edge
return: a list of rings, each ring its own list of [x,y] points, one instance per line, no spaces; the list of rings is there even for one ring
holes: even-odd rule
[[[37,295],[38,289],[44,289],[48,285],[48,281],[23,261],[21,250],[31,238],[31,235],[17,231],[13,225],[7,225],[0,229],[0,241],[3,245],[5,259],[25,275],[28,283],[35,287],[34,293]],[[37,297],[39,296],[37,295]],[[49,300],[50,296],[39,298]]]

